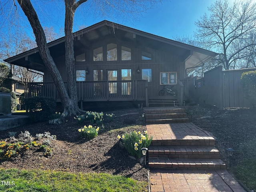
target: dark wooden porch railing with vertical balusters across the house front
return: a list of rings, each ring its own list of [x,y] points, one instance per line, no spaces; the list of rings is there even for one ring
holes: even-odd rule
[[[76,82],[78,101],[146,100],[146,86],[145,80]],[[30,83],[28,97],[34,96],[52,97],[60,101],[53,82]]]

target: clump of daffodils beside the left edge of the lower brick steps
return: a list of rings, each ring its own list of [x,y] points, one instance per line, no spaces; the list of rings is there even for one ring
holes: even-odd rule
[[[141,149],[144,147],[148,148],[153,139],[152,136],[148,138],[147,131],[144,131],[144,134],[141,134],[140,131],[136,132],[135,130],[134,132],[131,132],[129,134],[126,133],[122,135],[122,137],[120,135],[118,135],[117,137],[122,141],[124,148],[126,148],[126,150],[132,156],[135,156],[137,158],[141,158]]]

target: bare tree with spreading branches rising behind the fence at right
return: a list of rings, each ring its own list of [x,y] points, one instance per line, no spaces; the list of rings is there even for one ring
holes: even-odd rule
[[[218,0],[208,8],[211,15],[196,22],[196,37],[204,48],[220,53],[216,58],[226,70],[238,68],[248,49],[256,45],[249,42],[250,34],[256,33],[256,3],[239,1],[229,6],[228,0]]]

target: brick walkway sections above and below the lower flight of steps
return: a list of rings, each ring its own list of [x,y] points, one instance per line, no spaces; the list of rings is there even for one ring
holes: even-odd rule
[[[147,131],[156,145],[186,142],[205,145],[210,134],[193,123],[148,124]],[[170,138],[172,143],[170,143]],[[198,139],[200,142],[198,142]],[[205,142],[206,141],[206,142]],[[174,142],[174,143],[173,143]],[[194,143],[198,142],[198,143]],[[202,142],[202,143],[201,143]],[[214,141],[213,141],[214,142]],[[246,192],[226,169],[150,169],[151,192]]]

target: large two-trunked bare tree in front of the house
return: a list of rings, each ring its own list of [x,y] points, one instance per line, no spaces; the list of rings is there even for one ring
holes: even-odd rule
[[[39,54],[44,61],[44,65],[50,72],[54,84],[60,93],[60,100],[64,107],[64,114],[76,114],[80,112],[77,102],[76,93],[76,78],[74,69],[74,45],[73,45],[73,23],[74,13],[78,7],[84,3],[91,3],[90,7],[94,8],[95,13],[98,16],[104,14],[126,15],[125,18],[134,18],[135,14],[138,15],[141,12],[150,8],[154,3],[160,2],[160,0],[94,0],[87,2],[87,0],[64,0],[65,3],[65,48],[66,48],[66,71],[67,71],[67,88],[64,86],[64,82],[58,71],[46,42],[46,35],[42,28],[42,25],[38,19],[36,10],[32,6],[30,0],[17,0],[18,4],[22,8],[24,14],[28,18],[32,30],[34,32],[36,43],[38,45]],[[92,6],[93,5],[93,6]],[[14,2],[14,6],[16,6]]]

